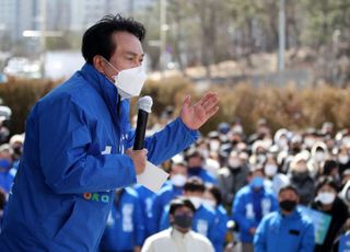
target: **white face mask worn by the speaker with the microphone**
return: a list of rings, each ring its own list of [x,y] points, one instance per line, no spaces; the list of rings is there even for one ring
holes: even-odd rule
[[[114,70],[118,71],[118,69],[116,69],[109,61],[106,59],[105,61]],[[120,96],[122,99],[130,99],[140,95],[147,76],[143,72],[142,66],[139,66],[118,71],[118,75],[114,76],[113,79]]]

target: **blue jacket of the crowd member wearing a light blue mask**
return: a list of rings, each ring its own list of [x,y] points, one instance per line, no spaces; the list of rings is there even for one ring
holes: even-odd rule
[[[260,208],[258,213],[256,207]],[[254,192],[250,185],[241,188],[233,202],[232,218],[238,224],[241,241],[253,243],[250,228],[257,228],[267,214],[278,209],[278,202],[273,192],[261,188]]]

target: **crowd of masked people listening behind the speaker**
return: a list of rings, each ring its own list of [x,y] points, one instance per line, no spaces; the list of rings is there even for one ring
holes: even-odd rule
[[[0,146],[0,216],[21,160],[24,135]],[[350,206],[350,130],[272,133],[257,122],[217,130],[162,164],[160,192],[118,188],[101,251],[338,251]],[[103,195],[84,195],[104,201]],[[103,221],[103,220],[102,220]],[[163,248],[163,249],[160,249]],[[182,249],[180,249],[182,248]]]

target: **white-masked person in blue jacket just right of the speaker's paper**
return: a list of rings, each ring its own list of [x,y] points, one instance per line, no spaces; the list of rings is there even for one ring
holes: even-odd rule
[[[184,185],[187,180],[187,167],[185,162],[174,162],[171,168],[168,184],[154,195],[152,205],[151,230],[152,234],[160,231],[160,220],[166,205],[177,196],[184,194]]]

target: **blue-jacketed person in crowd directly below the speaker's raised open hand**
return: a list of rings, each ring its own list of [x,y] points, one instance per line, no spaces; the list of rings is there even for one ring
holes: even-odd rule
[[[199,176],[205,183],[218,184],[215,177],[213,177],[210,172],[205,168],[205,159],[202,154],[195,148],[189,149],[186,152],[185,160],[188,168],[188,176]]]

